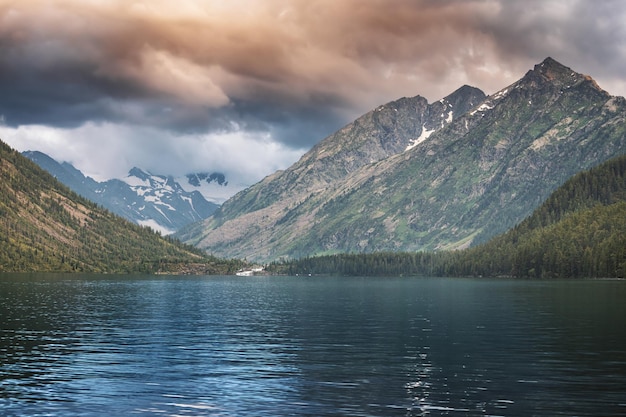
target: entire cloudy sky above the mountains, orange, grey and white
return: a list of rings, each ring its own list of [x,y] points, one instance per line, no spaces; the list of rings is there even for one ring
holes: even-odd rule
[[[622,0],[0,0],[0,139],[251,185],[380,104],[550,56],[626,96]]]

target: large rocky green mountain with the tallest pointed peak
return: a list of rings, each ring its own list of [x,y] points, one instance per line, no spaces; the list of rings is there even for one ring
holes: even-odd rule
[[[624,98],[552,58],[489,97],[455,97],[381,106],[177,236],[263,261],[459,249],[508,230],[577,172],[626,152]],[[451,102],[468,106],[448,122]]]

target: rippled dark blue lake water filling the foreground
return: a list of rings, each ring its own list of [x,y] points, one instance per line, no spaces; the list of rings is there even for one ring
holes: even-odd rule
[[[626,282],[0,275],[3,416],[623,416]]]

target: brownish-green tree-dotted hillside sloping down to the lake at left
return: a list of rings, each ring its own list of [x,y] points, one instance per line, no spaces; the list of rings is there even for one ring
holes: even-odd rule
[[[0,141],[0,272],[233,273],[79,196]]]

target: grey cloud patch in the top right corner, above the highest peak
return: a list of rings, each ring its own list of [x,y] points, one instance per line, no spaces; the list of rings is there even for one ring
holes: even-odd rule
[[[626,70],[625,18],[620,0],[531,0],[502,2],[497,18],[483,26],[497,40],[497,55],[517,66],[552,56],[612,85],[623,81]]]

